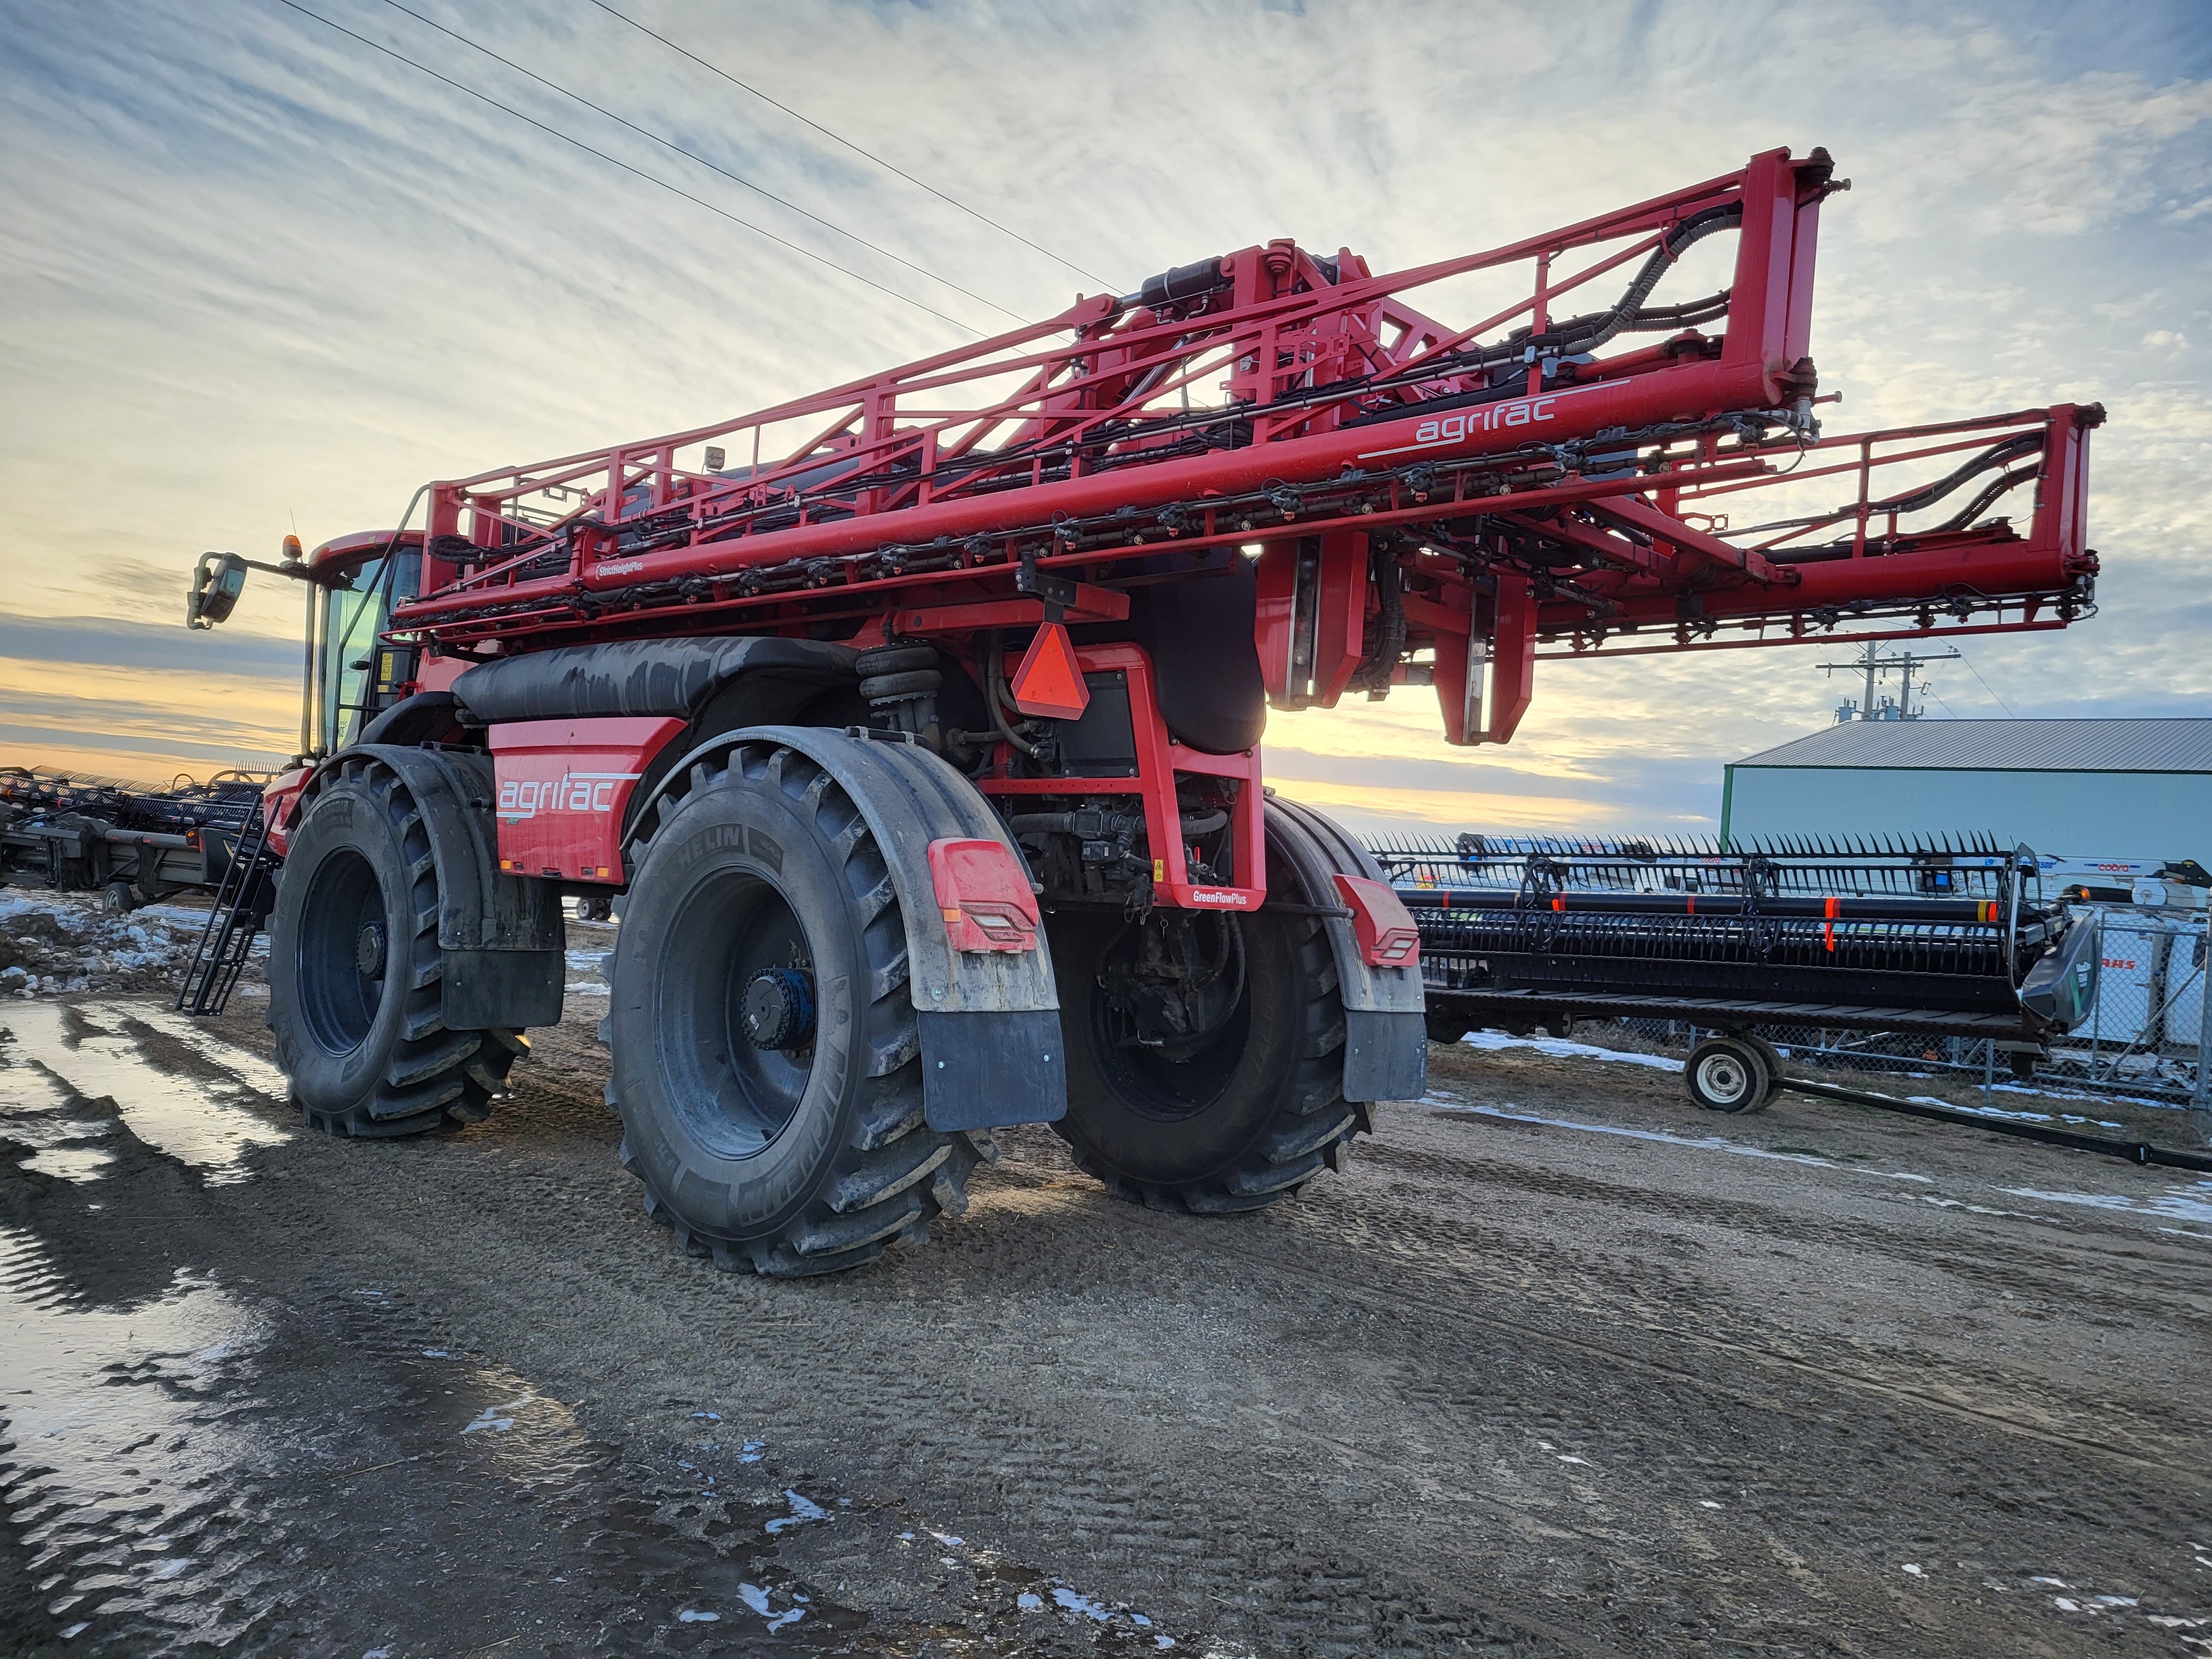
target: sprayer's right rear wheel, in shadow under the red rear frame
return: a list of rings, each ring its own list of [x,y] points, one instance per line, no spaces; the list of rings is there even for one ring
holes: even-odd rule
[[[1186,1020],[1188,1035],[1164,1035],[1146,1011],[1157,987],[1130,969],[1159,960],[1148,927],[1232,931],[1243,982],[1234,1000],[1223,991],[1210,1026]],[[1316,918],[1155,909],[1124,922],[1064,911],[1051,945],[1068,1046],[1068,1115],[1053,1128],[1108,1192],[1155,1210],[1228,1214],[1343,1168],[1369,1121],[1345,1099],[1345,1013]],[[1199,956],[1212,962],[1221,951],[1199,938]]]

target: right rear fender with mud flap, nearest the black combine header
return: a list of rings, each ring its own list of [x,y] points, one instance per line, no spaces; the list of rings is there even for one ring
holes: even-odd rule
[[[1323,911],[1345,1004],[1345,1099],[1420,1099],[1429,1091],[1427,995],[1420,967],[1369,967],[1336,876],[1387,880],[1336,823],[1267,796],[1267,898]],[[1287,876],[1287,891],[1279,878]]]

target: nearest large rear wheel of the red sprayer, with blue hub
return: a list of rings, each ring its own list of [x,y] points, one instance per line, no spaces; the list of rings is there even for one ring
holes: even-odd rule
[[[922,1119],[907,927],[860,807],[763,741],[692,765],[655,812],[606,1024],[646,1212],[776,1276],[927,1243],[991,1139]]]

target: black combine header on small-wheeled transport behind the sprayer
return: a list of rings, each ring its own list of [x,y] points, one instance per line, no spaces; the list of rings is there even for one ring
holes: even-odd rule
[[[1484,841],[1378,847],[1420,925],[1429,1035],[1705,1029],[1690,1099],[1756,1110],[1756,1026],[1986,1037],[2020,1075],[2097,1002],[2095,916],[2046,898],[2026,847]]]

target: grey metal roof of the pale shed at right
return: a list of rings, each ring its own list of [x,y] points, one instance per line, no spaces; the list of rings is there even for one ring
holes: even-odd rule
[[[2212,719],[1849,721],[1736,765],[1940,772],[2212,772]]]

